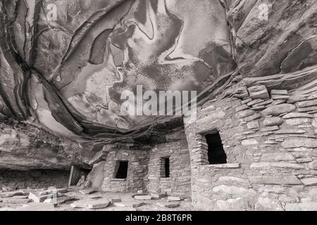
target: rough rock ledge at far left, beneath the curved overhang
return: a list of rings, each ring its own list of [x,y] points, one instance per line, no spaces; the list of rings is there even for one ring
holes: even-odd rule
[[[0,169],[68,170],[71,165],[89,168],[89,148],[31,124],[2,118],[0,136]]]

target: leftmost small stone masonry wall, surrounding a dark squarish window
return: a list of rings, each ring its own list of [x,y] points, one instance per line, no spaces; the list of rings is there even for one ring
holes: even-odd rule
[[[128,161],[127,179],[115,179],[118,160]],[[137,192],[144,190],[149,153],[145,150],[113,150],[108,153],[104,165],[102,191]]]

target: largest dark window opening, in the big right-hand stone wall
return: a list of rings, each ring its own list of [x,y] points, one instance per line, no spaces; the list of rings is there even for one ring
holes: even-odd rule
[[[206,140],[208,144],[208,161],[210,165],[227,163],[227,155],[223,150],[223,143],[219,132],[215,134],[207,134]]]

